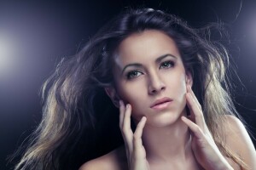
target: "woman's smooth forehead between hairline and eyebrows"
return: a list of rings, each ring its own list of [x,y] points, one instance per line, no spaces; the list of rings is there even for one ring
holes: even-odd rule
[[[171,37],[162,31],[147,30],[126,37],[119,44],[115,61],[123,64],[132,61],[140,62],[140,59],[155,59],[163,54],[180,57]]]

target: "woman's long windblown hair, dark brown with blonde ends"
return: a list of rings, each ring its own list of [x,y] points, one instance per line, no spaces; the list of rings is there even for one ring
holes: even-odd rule
[[[163,31],[176,42],[213,139],[225,156],[244,166],[224,144],[225,115],[237,115],[230,98],[227,50],[206,38],[209,26],[193,29],[172,14],[129,9],[97,32],[78,54],[62,59],[44,82],[44,115],[15,169],[77,169],[84,161],[123,143],[119,111],[104,88],[113,86],[112,56],[134,32]],[[108,138],[110,141],[102,141]],[[96,149],[102,150],[96,152]]]

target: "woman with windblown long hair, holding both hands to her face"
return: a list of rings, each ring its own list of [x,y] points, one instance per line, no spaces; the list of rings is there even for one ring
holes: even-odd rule
[[[16,169],[256,169],[229,56],[201,31],[154,9],[119,14],[45,82],[44,118]]]

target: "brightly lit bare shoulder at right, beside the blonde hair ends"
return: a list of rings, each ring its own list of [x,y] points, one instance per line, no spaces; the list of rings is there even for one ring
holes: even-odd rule
[[[248,167],[256,169],[256,151],[247,129],[236,116],[225,116],[226,145],[236,152]]]

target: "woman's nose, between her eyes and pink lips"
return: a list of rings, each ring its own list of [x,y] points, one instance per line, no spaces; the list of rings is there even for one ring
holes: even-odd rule
[[[158,74],[151,74],[148,79],[148,94],[159,94],[166,89],[165,83]]]

